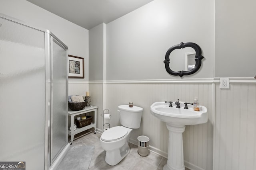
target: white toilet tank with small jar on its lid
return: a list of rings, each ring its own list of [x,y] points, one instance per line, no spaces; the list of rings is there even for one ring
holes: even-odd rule
[[[131,129],[140,128],[140,121],[143,109],[138,106],[129,107],[129,105],[118,106],[120,111],[120,123],[124,127]]]

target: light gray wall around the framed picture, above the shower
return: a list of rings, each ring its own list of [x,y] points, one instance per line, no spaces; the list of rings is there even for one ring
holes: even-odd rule
[[[70,55],[84,58],[83,79],[88,80],[88,30],[48,12],[26,0],[0,0],[0,13],[42,29],[50,30],[68,46]]]

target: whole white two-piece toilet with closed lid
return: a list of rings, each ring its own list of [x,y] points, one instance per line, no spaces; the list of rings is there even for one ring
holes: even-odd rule
[[[106,150],[105,161],[114,166],[118,164],[130,151],[128,146],[132,129],[140,128],[143,109],[138,106],[118,106],[120,112],[120,123],[122,126],[111,127],[104,131],[100,137],[100,143]]]

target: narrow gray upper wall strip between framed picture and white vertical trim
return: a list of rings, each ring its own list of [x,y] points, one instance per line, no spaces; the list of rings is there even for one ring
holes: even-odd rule
[[[89,30],[89,80],[103,80],[103,24]]]

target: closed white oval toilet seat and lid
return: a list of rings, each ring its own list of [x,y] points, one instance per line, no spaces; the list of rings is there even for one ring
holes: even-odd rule
[[[101,140],[105,142],[116,141],[125,137],[128,133],[128,129],[123,126],[111,127],[107,131],[104,131],[101,135]]]

